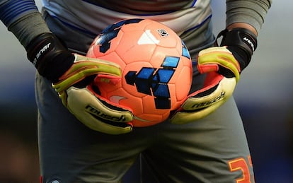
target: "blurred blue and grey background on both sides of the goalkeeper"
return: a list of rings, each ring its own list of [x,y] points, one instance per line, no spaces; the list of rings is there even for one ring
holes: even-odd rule
[[[217,34],[225,25],[225,1],[214,0],[212,6]],[[234,93],[260,183],[293,179],[292,7],[293,1],[273,2]],[[0,47],[0,183],[38,182],[35,69],[2,23]]]

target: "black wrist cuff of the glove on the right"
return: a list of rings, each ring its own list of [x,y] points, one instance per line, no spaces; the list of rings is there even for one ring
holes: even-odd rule
[[[253,52],[258,46],[256,36],[248,29],[234,28],[232,30],[222,30],[217,39],[219,37],[222,37],[220,46],[226,46],[227,49],[234,53],[235,57],[241,57],[241,59],[236,59],[239,61],[241,71],[243,71],[250,63]],[[218,46],[217,41],[215,45]]]

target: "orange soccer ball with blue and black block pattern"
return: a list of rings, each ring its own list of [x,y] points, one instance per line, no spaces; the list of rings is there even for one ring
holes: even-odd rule
[[[119,81],[96,77],[100,93],[95,95],[132,111],[133,126],[163,122],[188,96],[193,70],[188,49],[173,30],[154,20],[127,19],[108,26],[87,57],[120,65]]]

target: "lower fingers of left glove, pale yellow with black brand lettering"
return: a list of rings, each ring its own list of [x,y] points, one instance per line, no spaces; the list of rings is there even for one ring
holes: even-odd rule
[[[70,87],[66,97],[68,110],[89,128],[106,134],[132,131],[132,112],[105,105],[87,88]]]

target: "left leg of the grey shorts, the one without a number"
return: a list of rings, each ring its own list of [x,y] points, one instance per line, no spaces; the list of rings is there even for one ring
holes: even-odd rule
[[[143,134],[113,136],[88,129],[46,79],[37,76],[35,90],[43,182],[120,182],[148,143]]]

